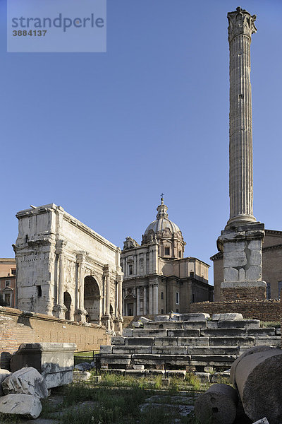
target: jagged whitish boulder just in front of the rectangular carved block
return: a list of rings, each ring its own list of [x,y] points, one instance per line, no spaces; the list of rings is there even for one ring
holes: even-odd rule
[[[35,368],[22,368],[8,375],[2,382],[4,394],[30,394],[39,399],[47,398],[48,389],[44,378]]]

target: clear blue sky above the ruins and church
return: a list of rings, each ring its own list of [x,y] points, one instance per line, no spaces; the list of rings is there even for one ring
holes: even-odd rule
[[[108,0],[107,52],[6,53],[0,0],[1,249],[17,211],[55,203],[137,242],[164,192],[185,255],[211,264],[228,220],[229,0]],[[282,2],[245,0],[252,36],[254,213],[281,224]],[[212,269],[210,271],[212,281]]]

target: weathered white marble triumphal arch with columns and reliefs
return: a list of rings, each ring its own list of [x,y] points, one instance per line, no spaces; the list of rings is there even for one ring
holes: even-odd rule
[[[55,204],[16,217],[18,308],[120,331],[119,247]]]

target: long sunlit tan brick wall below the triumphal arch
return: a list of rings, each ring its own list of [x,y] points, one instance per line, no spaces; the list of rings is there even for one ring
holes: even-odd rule
[[[106,329],[95,324],[79,324],[66,319],[32,312],[25,313],[10,307],[0,307],[0,367],[8,366],[11,353],[21,343],[76,343],[77,351],[96,351],[110,344]]]

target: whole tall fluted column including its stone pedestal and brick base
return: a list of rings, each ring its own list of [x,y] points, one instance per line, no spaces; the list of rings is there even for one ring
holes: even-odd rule
[[[264,224],[253,216],[250,44],[256,16],[238,7],[228,18],[230,51],[230,218],[217,240],[223,252],[221,300],[266,298],[262,281]]]

